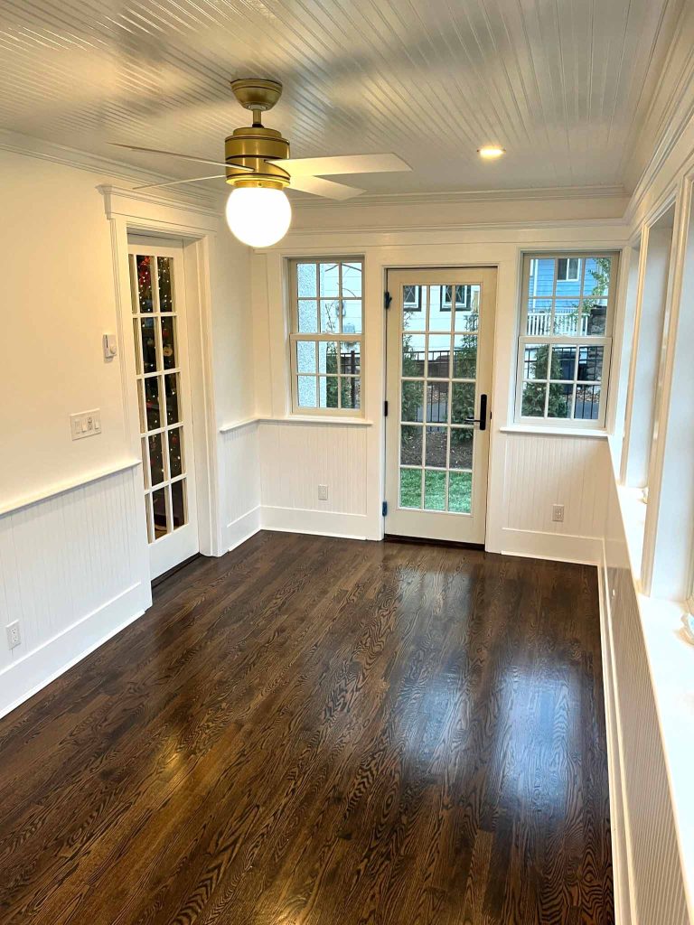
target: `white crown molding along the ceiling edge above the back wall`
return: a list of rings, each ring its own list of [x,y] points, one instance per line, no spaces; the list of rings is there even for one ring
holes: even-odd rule
[[[500,202],[543,202],[557,199],[626,199],[628,193],[621,183],[597,186],[548,186],[548,187],[521,187],[512,190],[457,190],[449,192],[391,192],[385,194],[369,194],[358,196],[346,203],[340,203],[341,208],[350,206],[362,207],[364,205],[455,205],[457,203],[500,203]],[[294,199],[298,210],[326,208],[334,205],[330,199],[308,197]]]

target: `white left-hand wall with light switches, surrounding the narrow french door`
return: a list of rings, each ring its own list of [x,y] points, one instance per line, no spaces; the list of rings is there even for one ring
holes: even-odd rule
[[[115,360],[106,362],[101,346],[119,320],[118,236],[97,189],[113,178],[98,163],[78,168],[60,159],[44,145],[31,151],[30,142],[26,154],[0,151],[0,715],[151,602],[137,408],[127,381],[130,326]],[[136,216],[157,216],[141,233],[212,229],[204,238],[209,276],[191,274],[207,311],[189,328],[204,348],[195,374],[202,412],[193,425],[209,451],[215,510],[207,513],[223,522],[210,545],[221,552],[227,521],[217,508],[257,507],[257,488],[248,494],[243,487],[243,474],[258,472],[256,448],[228,458],[219,432],[229,419],[254,413],[249,252],[218,209],[166,203],[133,198]],[[121,218],[123,229],[137,224]],[[93,408],[101,410],[102,432],[73,441],[68,415]],[[10,651],[4,627],[14,620],[22,643]]]

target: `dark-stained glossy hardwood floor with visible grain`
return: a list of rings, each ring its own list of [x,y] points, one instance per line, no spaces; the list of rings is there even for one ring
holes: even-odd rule
[[[0,921],[613,922],[595,570],[193,561],[0,721]]]

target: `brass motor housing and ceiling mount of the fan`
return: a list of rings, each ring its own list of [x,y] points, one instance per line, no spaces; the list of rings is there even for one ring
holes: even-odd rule
[[[224,156],[229,164],[251,167],[253,173],[227,167],[227,182],[234,187],[265,187],[283,190],[289,186],[290,175],[282,167],[269,163],[290,156],[290,145],[275,129],[266,129],[260,114],[271,109],[279,100],[282,85],[277,80],[234,80],[231,90],[244,109],[254,114],[252,126],[235,129],[224,142]]]

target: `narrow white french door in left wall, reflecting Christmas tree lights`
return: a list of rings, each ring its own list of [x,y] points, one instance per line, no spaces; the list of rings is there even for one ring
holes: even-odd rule
[[[199,551],[183,249],[130,240],[130,294],[152,578]]]

